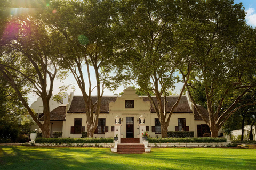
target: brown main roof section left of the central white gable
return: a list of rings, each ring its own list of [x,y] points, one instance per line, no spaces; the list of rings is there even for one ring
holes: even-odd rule
[[[100,113],[109,113],[109,103],[110,101],[116,101],[117,96],[102,96],[100,103]],[[97,96],[91,97],[92,102],[97,101]],[[95,112],[96,107],[94,108]],[[85,102],[83,96],[74,96],[68,113],[85,113]]]

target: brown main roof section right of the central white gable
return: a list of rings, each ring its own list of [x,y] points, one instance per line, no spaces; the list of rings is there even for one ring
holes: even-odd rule
[[[152,97],[154,103],[157,105],[157,99],[156,97]],[[167,100],[167,112],[171,111],[172,106],[176,103],[178,100],[178,96],[168,96],[166,97]],[[149,101],[149,98],[146,96],[143,96],[143,101]],[[164,105],[164,97],[161,97],[162,105]],[[151,112],[155,112],[155,109],[151,105],[150,107]],[[173,113],[191,113],[191,109],[188,104],[188,100],[186,96],[182,96],[178,106],[174,109]]]

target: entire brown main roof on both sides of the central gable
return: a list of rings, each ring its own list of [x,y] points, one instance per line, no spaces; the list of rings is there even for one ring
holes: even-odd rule
[[[146,96],[142,96],[143,101],[149,101],[149,98]],[[97,96],[92,96],[92,101],[97,101]],[[100,113],[109,113],[109,103],[110,101],[116,101],[117,96],[102,96],[101,98],[101,106]],[[175,104],[178,97],[169,96],[167,97],[167,112],[170,112],[171,107]],[[153,100],[156,101],[156,97],[153,97]],[[162,100],[163,104],[163,100]],[[151,106],[151,112],[155,112],[154,108]],[[94,109],[95,111],[95,109]],[[188,104],[188,100],[186,96],[182,96],[178,106],[174,109],[174,113],[191,113],[191,109]],[[70,108],[68,113],[85,113],[85,102],[83,96],[74,96],[71,101]]]

